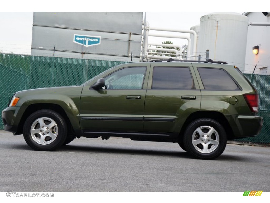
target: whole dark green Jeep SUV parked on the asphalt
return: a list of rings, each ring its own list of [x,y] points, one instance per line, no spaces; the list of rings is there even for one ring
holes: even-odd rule
[[[227,140],[259,134],[258,100],[226,62],[153,60],[110,68],[80,86],[16,92],[2,119],[35,150],[115,136],[178,143],[195,158],[214,159]]]

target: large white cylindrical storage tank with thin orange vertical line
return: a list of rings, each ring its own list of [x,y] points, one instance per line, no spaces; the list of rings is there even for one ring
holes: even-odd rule
[[[226,61],[243,73],[248,17],[235,12],[215,12],[201,17],[197,54],[209,50],[209,58]],[[203,55],[203,54],[202,54]],[[205,55],[203,56],[205,57]]]

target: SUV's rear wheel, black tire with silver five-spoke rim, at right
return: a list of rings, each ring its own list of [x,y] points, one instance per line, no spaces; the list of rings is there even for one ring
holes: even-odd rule
[[[198,159],[215,159],[227,144],[227,135],[216,120],[201,118],[191,122],[184,133],[184,147]]]

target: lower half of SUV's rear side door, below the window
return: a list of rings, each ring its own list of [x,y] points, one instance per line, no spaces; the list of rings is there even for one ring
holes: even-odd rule
[[[186,118],[191,113],[200,110],[201,96],[199,90],[193,90],[193,94],[191,94],[197,97],[196,100],[181,99],[181,96],[190,95],[190,92],[188,90],[175,90],[171,91],[169,95],[162,95],[161,91],[147,90],[144,117],[176,118],[176,120],[174,122],[145,121],[144,130],[146,132],[179,133]]]

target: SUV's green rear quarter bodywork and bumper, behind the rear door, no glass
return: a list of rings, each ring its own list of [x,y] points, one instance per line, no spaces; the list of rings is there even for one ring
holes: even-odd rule
[[[250,86],[247,80],[232,65],[215,64],[216,68],[222,68],[234,78],[241,90],[204,90],[198,67],[210,67],[208,64],[192,64],[201,88],[201,111],[215,111],[222,113],[231,126],[234,138],[255,136],[262,127],[262,117],[256,116],[253,119],[239,119],[238,115],[253,115],[249,109],[243,94],[257,94],[257,91]],[[213,66],[211,66],[213,67]],[[236,98],[237,102],[230,103],[230,98]]]

